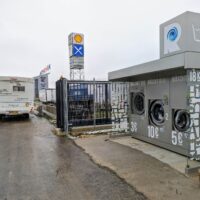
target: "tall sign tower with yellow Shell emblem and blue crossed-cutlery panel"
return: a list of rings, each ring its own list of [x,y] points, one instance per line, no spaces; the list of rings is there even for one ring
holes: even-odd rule
[[[70,80],[84,80],[84,35],[71,33],[68,38]]]

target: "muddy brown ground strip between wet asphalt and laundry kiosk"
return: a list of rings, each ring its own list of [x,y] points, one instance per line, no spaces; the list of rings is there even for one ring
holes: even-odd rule
[[[149,199],[200,199],[198,177],[186,177],[168,164],[138,150],[139,148],[116,143],[114,139],[104,135],[77,139],[75,142],[96,163],[113,170]]]

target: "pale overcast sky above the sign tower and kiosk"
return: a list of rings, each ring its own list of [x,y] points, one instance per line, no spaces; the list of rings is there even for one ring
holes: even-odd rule
[[[159,58],[159,25],[199,0],[0,0],[0,75],[69,78],[68,35],[85,35],[85,77]]]

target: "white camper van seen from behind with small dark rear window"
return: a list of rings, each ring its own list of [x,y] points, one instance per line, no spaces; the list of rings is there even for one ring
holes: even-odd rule
[[[0,117],[24,115],[33,110],[34,81],[32,78],[0,76]]]

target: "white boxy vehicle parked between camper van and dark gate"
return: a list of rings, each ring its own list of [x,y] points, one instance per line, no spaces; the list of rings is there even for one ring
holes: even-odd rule
[[[39,91],[39,99],[43,103],[56,102],[56,89],[48,88]]]

